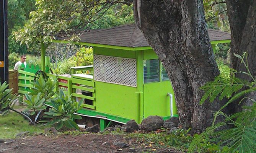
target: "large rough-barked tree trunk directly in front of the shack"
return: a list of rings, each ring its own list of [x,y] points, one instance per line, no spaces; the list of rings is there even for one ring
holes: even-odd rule
[[[181,123],[204,130],[221,104],[199,104],[199,87],[219,74],[202,0],[134,0],[134,16],[168,72]]]

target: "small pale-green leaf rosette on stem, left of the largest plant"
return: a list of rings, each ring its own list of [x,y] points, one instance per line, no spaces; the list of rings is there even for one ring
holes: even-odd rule
[[[27,107],[24,110],[24,112],[30,111],[29,116],[34,116],[34,121],[30,118],[31,119],[30,122],[32,124],[36,125],[36,121],[37,121],[39,115],[41,114],[41,111],[46,109],[46,106],[44,106],[45,99],[41,98],[41,93],[38,93],[37,95],[25,94],[25,97],[26,97],[26,100],[24,100],[24,102],[21,102],[21,103],[25,104]],[[38,112],[38,113],[36,113],[36,112]]]

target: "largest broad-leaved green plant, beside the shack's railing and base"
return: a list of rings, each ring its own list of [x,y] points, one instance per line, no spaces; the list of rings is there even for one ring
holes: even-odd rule
[[[82,109],[85,104],[83,104],[84,99],[79,103],[73,101],[72,96],[65,96],[62,90],[59,91],[57,98],[52,100],[52,108],[49,112],[45,112],[44,117],[51,118],[51,121],[47,125],[54,125],[57,130],[61,129],[64,125],[69,129],[79,129],[78,125],[73,121],[73,119],[82,119],[81,116],[75,115],[73,113]]]

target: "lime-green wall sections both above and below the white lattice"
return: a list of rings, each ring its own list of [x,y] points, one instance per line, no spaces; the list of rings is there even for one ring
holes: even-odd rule
[[[93,47],[93,54],[136,59],[136,51]],[[137,88],[95,81],[96,111],[137,120]],[[138,121],[139,122],[139,121]]]

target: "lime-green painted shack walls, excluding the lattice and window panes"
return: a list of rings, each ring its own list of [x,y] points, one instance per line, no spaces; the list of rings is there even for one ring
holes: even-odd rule
[[[95,81],[96,111],[141,122],[150,115],[170,116],[170,81],[143,83],[143,60],[158,59],[151,50],[120,50],[94,47],[93,54],[137,59],[137,87]],[[160,69],[161,69],[160,64]],[[173,96],[173,114],[177,114]]]

